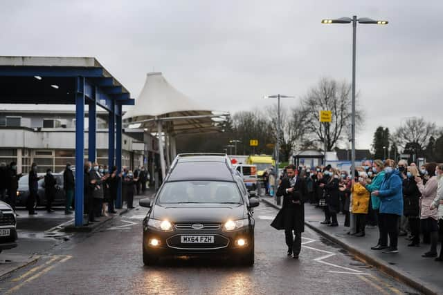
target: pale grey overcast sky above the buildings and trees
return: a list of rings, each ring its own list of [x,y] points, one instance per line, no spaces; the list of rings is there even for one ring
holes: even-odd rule
[[[295,95],[292,108],[321,77],[350,82],[352,26],[320,20],[352,15],[389,21],[357,27],[357,148],[406,117],[443,126],[441,0],[5,0],[0,55],[96,57],[134,98],[155,70],[214,110],[265,108],[275,93]]]

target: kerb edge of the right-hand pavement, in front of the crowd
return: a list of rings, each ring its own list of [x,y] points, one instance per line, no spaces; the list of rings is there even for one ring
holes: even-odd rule
[[[275,209],[279,210],[281,209],[280,206],[274,204],[273,199],[272,200],[268,200],[266,198],[260,198],[260,199],[266,204],[269,204],[271,207],[274,207]],[[309,222],[305,221],[305,225],[309,227],[309,229],[316,231],[318,234],[324,236],[328,240],[331,240],[337,245],[340,245],[341,247],[349,251],[352,255],[354,255],[357,259],[361,260],[363,263],[376,267],[381,272],[384,272],[385,274],[392,276],[396,280],[399,280],[401,283],[405,283],[406,285],[413,287],[414,289],[417,289],[417,291],[422,292],[423,294],[430,294],[430,295],[442,294],[441,292],[437,291],[438,290],[437,287],[429,286],[430,285],[429,283],[425,283],[424,281],[419,280],[418,278],[410,278],[410,275],[406,274],[400,269],[397,269],[397,267],[392,267],[392,265],[389,265],[388,263],[385,263],[382,260],[364,254],[358,249],[355,249],[354,247],[347,245],[345,242],[342,242],[338,238],[335,238],[334,236],[328,234],[325,231],[322,231],[318,227],[309,224]]]

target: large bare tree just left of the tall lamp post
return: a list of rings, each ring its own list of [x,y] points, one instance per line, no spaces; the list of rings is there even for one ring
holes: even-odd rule
[[[324,146],[327,151],[345,140],[352,122],[351,85],[345,81],[336,82],[334,79],[320,79],[318,85],[302,99],[303,121],[305,130],[318,146]],[[332,111],[332,122],[320,123],[320,111]],[[363,116],[356,111],[356,126],[361,125]],[[326,128],[325,128],[326,126]]]

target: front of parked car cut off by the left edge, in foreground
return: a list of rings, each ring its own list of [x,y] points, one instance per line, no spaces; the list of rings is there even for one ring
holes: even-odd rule
[[[0,253],[17,247],[17,216],[6,202],[0,201]]]

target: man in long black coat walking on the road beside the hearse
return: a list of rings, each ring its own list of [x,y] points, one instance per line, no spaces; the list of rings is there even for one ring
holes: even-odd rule
[[[287,254],[297,259],[302,247],[302,232],[305,231],[304,203],[307,187],[305,180],[296,175],[293,165],[289,165],[286,172],[287,176],[282,178],[277,189],[277,196],[283,196],[283,206],[271,225],[277,229],[284,229]]]

